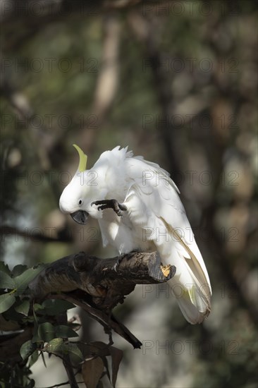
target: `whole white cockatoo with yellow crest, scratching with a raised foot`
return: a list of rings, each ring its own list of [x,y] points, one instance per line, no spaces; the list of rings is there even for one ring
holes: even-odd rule
[[[176,266],[168,282],[185,319],[201,323],[211,310],[211,284],[176,184],[127,147],[103,152],[87,170],[87,156],[74,146],[80,162],[61,195],[61,211],[79,224],[97,219],[104,246],[119,254],[157,250],[163,265]]]

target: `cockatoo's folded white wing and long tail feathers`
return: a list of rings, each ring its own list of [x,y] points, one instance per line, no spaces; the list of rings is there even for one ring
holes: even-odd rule
[[[142,245],[153,241],[161,260],[176,266],[170,285],[185,318],[202,322],[211,308],[211,285],[178,189],[157,164],[135,157],[125,164],[130,188],[123,203],[130,221],[145,231]]]

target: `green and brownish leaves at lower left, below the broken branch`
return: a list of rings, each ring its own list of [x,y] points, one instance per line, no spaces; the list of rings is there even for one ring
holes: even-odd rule
[[[98,341],[86,344],[71,340],[78,337],[80,325],[67,322],[66,318],[66,324],[60,325],[59,322],[66,317],[67,310],[75,307],[73,303],[55,299],[36,303],[31,298],[28,286],[44,267],[37,265],[28,269],[26,265],[16,265],[10,271],[8,265],[0,262],[1,329],[13,337],[32,329],[31,338],[20,346],[18,361],[17,355],[13,353],[16,356],[15,368],[11,368],[12,362],[5,363],[1,356],[0,382],[4,387],[34,387],[30,368],[39,356],[44,361],[44,353],[48,353],[49,357],[53,354],[66,365],[80,371],[88,388],[97,387],[103,375],[107,375],[115,387],[123,351],[111,346],[112,343]],[[4,350],[4,345],[2,348]],[[111,357],[111,373],[106,358],[108,356]]]

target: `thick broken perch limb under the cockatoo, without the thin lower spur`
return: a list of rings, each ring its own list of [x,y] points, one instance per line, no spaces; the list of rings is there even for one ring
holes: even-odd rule
[[[102,309],[113,308],[132,292],[135,284],[157,284],[168,281],[176,268],[161,266],[158,253],[128,253],[118,270],[113,269],[118,257],[99,259],[84,252],[63,257],[51,263],[30,283],[32,296],[43,298],[49,293],[86,291]],[[116,300],[114,300],[116,296]]]

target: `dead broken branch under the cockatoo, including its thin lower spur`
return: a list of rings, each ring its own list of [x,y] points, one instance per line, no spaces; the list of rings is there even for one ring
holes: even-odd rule
[[[117,271],[113,269],[118,257],[99,259],[78,253],[63,257],[44,269],[31,283],[32,298],[66,299],[80,306],[97,320],[107,334],[114,330],[135,348],[140,341],[112,314],[112,309],[123,303],[135,284],[158,284],[171,279],[176,267],[163,267],[159,255],[129,253]]]

